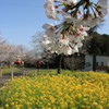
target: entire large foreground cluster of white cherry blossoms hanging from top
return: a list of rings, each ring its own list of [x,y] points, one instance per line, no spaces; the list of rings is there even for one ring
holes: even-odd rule
[[[97,3],[90,0],[46,0],[45,9],[49,19],[59,21],[58,14],[61,14],[63,22],[58,25],[44,24],[43,45],[51,52],[68,56],[78,52],[87,31],[105,21],[107,0],[98,0]]]

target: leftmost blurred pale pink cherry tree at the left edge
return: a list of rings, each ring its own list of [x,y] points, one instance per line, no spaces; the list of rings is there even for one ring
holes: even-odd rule
[[[25,57],[25,49],[21,45],[11,45],[4,39],[0,40],[0,61],[5,61],[8,63],[14,62],[16,60],[23,60]]]

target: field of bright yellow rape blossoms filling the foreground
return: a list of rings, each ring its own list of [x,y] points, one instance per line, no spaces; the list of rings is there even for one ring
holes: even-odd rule
[[[17,77],[0,92],[3,109],[109,109],[109,74],[68,72]]]

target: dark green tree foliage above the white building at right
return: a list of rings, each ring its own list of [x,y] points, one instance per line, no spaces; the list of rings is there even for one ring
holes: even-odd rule
[[[88,53],[109,56],[109,35],[93,33],[92,36],[88,41]]]

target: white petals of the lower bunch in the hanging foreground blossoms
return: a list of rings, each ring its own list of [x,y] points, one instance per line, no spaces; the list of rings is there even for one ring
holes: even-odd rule
[[[43,45],[45,45],[47,50],[50,50],[52,53],[64,53],[66,56],[78,52],[78,48],[83,46],[82,40],[87,36],[86,31],[89,29],[89,27],[81,25],[77,33],[70,32],[62,35],[60,33],[56,34],[55,27],[51,24],[45,24],[43,27],[46,28]],[[73,28],[71,27],[71,29]]]

